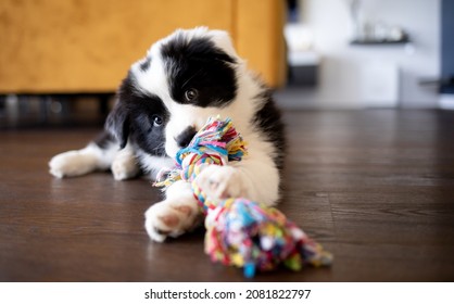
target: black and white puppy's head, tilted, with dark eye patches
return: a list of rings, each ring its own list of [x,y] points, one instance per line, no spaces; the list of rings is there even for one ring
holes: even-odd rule
[[[174,157],[206,118],[237,98],[241,60],[226,31],[179,29],[130,67],[106,129],[153,155]]]

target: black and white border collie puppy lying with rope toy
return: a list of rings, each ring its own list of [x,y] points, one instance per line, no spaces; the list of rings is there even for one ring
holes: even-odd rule
[[[273,205],[279,197],[283,127],[272,94],[236,53],[226,31],[178,29],[155,42],[121,84],[105,131],[86,148],[55,155],[56,177],[111,169],[117,180],[140,172],[155,178],[173,167],[210,116],[230,117],[248,142],[248,155],[228,166],[211,165],[199,182],[209,197],[244,197]],[[162,242],[200,225],[188,182],[167,188],[146,212],[150,238]]]

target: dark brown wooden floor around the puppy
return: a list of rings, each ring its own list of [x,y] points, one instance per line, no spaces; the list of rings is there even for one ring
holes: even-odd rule
[[[331,268],[256,281],[454,281],[454,112],[289,112],[280,210]],[[55,179],[55,153],[94,130],[0,132],[1,281],[242,281],[203,230],[163,244],[143,229],[159,190],[110,174]]]

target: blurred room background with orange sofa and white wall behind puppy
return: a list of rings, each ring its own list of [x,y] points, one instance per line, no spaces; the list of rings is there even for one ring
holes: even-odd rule
[[[102,125],[176,28],[226,29],[282,109],[454,109],[450,0],[2,0],[0,128]]]

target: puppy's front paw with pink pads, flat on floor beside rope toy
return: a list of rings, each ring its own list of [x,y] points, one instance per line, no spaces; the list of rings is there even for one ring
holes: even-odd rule
[[[146,229],[153,241],[163,242],[191,231],[202,223],[197,202],[192,198],[167,199],[146,212]]]

